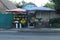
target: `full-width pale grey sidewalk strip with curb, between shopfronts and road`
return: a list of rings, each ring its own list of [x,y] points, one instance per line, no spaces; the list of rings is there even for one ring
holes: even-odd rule
[[[51,28],[41,28],[41,29],[1,29],[0,32],[4,32],[4,31],[16,31],[16,32],[35,32],[35,33],[60,33],[60,29],[51,29]]]

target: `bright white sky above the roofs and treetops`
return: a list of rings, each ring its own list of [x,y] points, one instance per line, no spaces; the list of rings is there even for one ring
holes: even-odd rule
[[[21,2],[23,0],[10,0],[12,2]],[[49,0],[24,0],[25,2],[29,3],[29,2],[32,2],[34,4],[36,4],[38,7],[39,6],[43,6],[45,5],[47,2],[49,2]]]

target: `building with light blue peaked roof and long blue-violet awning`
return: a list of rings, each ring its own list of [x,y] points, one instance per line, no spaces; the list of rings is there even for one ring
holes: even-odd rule
[[[47,7],[37,7],[33,3],[28,3],[28,4],[24,5],[23,9],[26,9],[27,14],[30,15],[29,21],[34,17],[33,19],[35,19],[36,24],[37,24],[35,26],[37,26],[37,27],[38,26],[45,27],[45,25],[47,25],[47,23],[49,22],[50,19],[57,17],[57,14],[55,13],[54,9],[47,8]],[[43,25],[41,25],[41,22],[43,23]],[[48,27],[48,26],[49,25],[47,25],[46,27]]]

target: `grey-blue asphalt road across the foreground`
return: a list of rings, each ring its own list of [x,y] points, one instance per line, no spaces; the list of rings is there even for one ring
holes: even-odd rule
[[[0,32],[0,40],[60,40],[60,33]]]

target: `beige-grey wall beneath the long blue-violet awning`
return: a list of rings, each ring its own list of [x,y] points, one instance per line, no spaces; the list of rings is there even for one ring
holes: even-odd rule
[[[36,13],[36,18],[42,18],[41,21],[49,21],[49,19],[56,18],[56,13],[54,13],[54,12],[38,12],[38,13]]]

